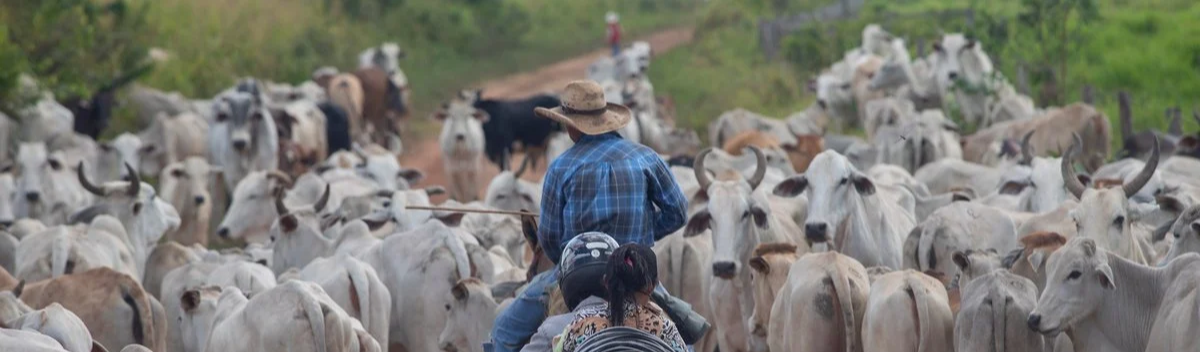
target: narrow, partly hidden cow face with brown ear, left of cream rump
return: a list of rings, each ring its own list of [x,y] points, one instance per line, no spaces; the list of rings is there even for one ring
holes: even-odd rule
[[[787,272],[797,259],[797,247],[788,243],[761,244],[750,258],[751,280],[754,281],[754,314],[750,315],[751,334],[767,336],[767,324],[770,322],[770,308],[775,294],[787,281]]]

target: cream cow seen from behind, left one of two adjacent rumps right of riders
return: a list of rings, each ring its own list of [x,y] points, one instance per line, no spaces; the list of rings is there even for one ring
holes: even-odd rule
[[[863,351],[866,269],[836,252],[800,257],[770,308],[770,351]]]

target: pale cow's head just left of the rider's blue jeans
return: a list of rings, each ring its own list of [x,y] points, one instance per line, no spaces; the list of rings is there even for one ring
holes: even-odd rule
[[[448,352],[482,352],[496,321],[492,290],[474,278],[458,280],[445,296],[446,324],[438,347]]]

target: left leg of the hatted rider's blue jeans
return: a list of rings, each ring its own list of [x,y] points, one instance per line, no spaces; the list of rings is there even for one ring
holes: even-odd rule
[[[484,344],[484,352],[517,352],[546,320],[547,288],[558,285],[558,267],[533,276],[524,291],[517,294],[492,327],[492,341]],[[491,345],[491,346],[488,346]],[[491,348],[490,348],[491,347]]]

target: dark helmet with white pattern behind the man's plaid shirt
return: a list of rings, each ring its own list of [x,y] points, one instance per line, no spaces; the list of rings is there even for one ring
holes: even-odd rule
[[[575,306],[589,296],[604,297],[604,273],[608,257],[619,245],[600,232],[586,232],[566,243],[558,262],[558,286],[566,306]]]

